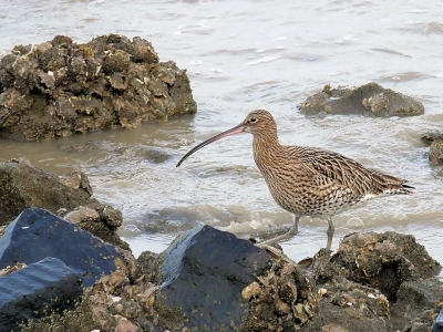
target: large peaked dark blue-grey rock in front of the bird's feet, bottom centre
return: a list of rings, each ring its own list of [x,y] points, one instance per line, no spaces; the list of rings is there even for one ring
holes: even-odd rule
[[[155,302],[161,325],[173,331],[181,325],[235,331],[248,307],[241,290],[271,263],[264,249],[229,232],[210,226],[187,231],[164,252]]]

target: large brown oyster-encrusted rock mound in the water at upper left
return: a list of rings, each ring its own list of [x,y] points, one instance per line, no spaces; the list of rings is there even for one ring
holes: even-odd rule
[[[78,44],[56,35],[0,58],[0,134],[41,141],[195,113],[185,70],[150,42],[119,34]]]

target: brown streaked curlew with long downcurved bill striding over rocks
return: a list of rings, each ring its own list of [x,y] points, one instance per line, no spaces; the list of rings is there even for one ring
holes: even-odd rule
[[[324,218],[329,222],[327,250],[331,249],[332,216],[375,197],[413,194],[405,180],[365,168],[338,153],[305,146],[280,145],[277,125],[265,110],[253,111],[238,126],[218,134],[190,149],[177,167],[199,148],[243,132],[254,135],[254,159],[274,199],[295,215],[292,228],[260,245],[270,245],[298,232],[301,216]]]

